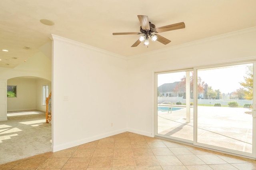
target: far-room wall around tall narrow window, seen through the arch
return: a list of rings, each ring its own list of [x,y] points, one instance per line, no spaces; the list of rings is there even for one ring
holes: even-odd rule
[[[45,79],[36,79],[36,110],[46,111],[46,105],[42,105],[42,85],[49,86],[49,94],[52,91],[52,82]]]

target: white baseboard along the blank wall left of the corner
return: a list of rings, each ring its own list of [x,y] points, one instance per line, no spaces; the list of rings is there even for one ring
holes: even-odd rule
[[[115,130],[115,131],[107,132],[107,133],[104,133],[104,134],[98,134],[98,135],[95,135],[95,136],[91,136],[91,137],[88,137],[88,138],[83,138],[83,139],[80,139],[80,140],[75,140],[75,141],[72,141],[72,142],[68,142],[68,143],[64,143],[64,144],[60,144],[60,145],[56,145],[56,146],[52,145],[52,151],[57,152],[57,151],[64,150],[64,149],[67,149],[67,148],[72,148],[72,147],[78,146],[80,144],[85,144],[85,143],[88,143],[88,142],[92,142],[92,141],[95,141],[95,140],[99,140],[99,139],[106,138],[106,137],[109,137],[109,136],[113,136],[113,135],[123,133],[123,132],[127,132],[127,129],[123,128],[123,129],[120,129],[120,130]]]

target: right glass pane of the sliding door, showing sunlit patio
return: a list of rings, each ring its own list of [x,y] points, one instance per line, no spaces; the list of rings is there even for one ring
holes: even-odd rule
[[[252,63],[197,70],[197,143],[252,154],[252,77]]]

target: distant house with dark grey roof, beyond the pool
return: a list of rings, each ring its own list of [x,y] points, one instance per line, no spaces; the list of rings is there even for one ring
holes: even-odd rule
[[[186,98],[186,90],[184,87],[177,88],[181,81],[174,83],[164,83],[158,89],[159,97],[183,97]]]

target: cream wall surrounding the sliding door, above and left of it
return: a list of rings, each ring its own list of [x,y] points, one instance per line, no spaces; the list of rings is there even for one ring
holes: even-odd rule
[[[154,72],[256,59],[256,28],[128,59],[128,130],[154,135]],[[134,83],[136,82],[136,83]],[[140,95],[140,102],[134,100]]]

